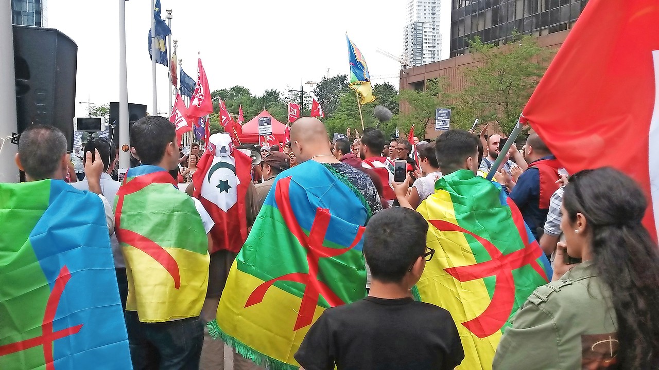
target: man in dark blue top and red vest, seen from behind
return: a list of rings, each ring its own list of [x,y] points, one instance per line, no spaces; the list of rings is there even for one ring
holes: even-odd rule
[[[530,134],[524,154],[529,168],[519,176],[510,193],[522,213],[525,223],[540,241],[542,226],[547,219],[552,194],[558,190],[558,170],[563,167],[538,134]]]

